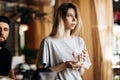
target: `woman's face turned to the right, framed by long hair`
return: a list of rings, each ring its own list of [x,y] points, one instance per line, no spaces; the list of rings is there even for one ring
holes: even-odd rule
[[[69,8],[65,17],[65,30],[73,30],[77,24],[77,17],[75,10]]]

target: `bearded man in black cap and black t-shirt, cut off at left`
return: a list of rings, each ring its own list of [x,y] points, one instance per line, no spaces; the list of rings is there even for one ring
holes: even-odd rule
[[[10,78],[15,79],[11,68],[12,55],[10,51],[5,48],[9,29],[10,20],[5,16],[0,16],[0,76],[9,76]]]

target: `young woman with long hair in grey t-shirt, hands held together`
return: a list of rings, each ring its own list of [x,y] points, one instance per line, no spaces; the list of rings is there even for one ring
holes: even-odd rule
[[[82,21],[77,6],[62,3],[54,16],[53,29],[40,46],[38,68],[57,72],[58,80],[82,80],[81,69],[91,65],[84,40],[79,37]]]

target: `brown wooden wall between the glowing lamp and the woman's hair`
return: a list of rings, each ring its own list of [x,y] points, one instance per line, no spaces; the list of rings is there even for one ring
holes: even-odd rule
[[[26,31],[26,43],[31,49],[39,49],[42,39],[49,35],[52,27],[52,10],[50,5],[40,6],[41,12],[46,13],[45,16],[29,18],[28,26],[29,30]],[[48,9],[49,8],[49,9]]]

